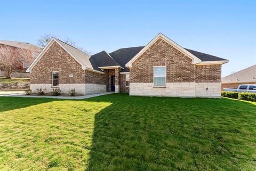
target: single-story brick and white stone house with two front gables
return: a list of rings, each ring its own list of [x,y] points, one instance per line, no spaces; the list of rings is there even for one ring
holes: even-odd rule
[[[221,65],[228,60],[189,50],[159,33],[146,46],[87,55],[52,38],[31,63],[30,88],[63,93],[106,91],[143,96],[221,97]]]

